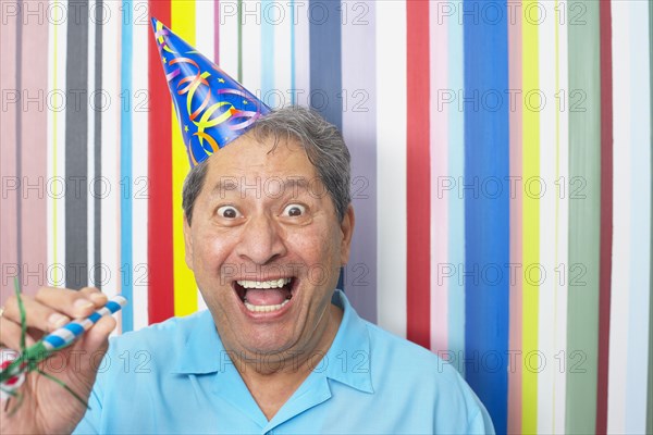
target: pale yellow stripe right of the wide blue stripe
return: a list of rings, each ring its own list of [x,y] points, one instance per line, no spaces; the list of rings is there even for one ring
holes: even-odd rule
[[[523,235],[522,235],[522,351],[523,374],[521,384],[521,432],[538,432],[538,306],[539,288],[539,252],[540,252],[540,114],[535,110],[540,105],[539,89],[539,20],[537,1],[522,1],[522,89],[523,89],[523,124],[522,124],[522,171],[523,171]],[[532,15],[530,15],[532,14]],[[530,358],[529,358],[530,357]]]

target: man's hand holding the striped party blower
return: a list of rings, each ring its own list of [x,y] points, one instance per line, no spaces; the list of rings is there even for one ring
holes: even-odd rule
[[[27,347],[71,320],[88,316],[108,300],[106,295],[90,287],[79,291],[41,287],[35,297],[22,296],[22,299],[28,326]],[[115,320],[103,316],[72,346],[41,362],[40,369],[87,400],[109,346],[109,334],[114,328]],[[7,300],[0,316],[0,347],[21,350],[21,313],[15,296]],[[15,398],[10,400],[9,407],[7,401],[0,403],[0,433],[71,433],[86,408],[51,380],[36,372],[26,376],[17,390],[23,395],[17,411],[11,414]]]

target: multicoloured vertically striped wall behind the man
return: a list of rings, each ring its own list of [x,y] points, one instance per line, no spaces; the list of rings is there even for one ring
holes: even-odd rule
[[[149,17],[353,154],[342,285],[498,433],[653,432],[644,1],[0,3],[1,299],[97,286],[122,331],[204,308]]]

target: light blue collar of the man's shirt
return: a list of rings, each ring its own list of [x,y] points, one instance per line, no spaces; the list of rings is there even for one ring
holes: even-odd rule
[[[345,294],[335,290],[332,303],[343,309],[343,320],[331,348],[320,363],[316,374],[348,385],[365,393],[373,393],[370,368],[370,337],[365,321],[358,316]],[[222,340],[215,330],[209,310],[194,314],[181,334],[184,351],[176,357],[173,373],[207,374],[224,372],[231,364]],[[317,361],[316,361],[317,362]]]

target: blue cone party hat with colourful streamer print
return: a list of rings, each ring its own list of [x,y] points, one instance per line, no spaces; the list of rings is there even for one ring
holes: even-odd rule
[[[190,166],[238,138],[270,108],[152,18],[155,38]]]

